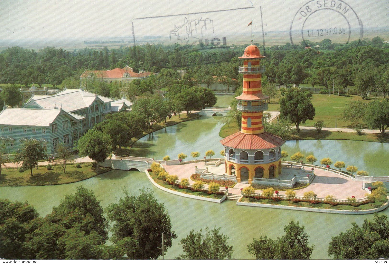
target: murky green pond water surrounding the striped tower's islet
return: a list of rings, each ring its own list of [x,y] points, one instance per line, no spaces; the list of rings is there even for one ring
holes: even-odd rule
[[[154,157],[159,159],[165,155],[177,157],[180,152],[188,156],[192,151],[202,155],[206,150],[213,149],[215,157],[221,157],[222,146],[218,135],[221,124],[220,117],[200,117],[193,121],[183,122],[141,138],[132,155]],[[313,153],[318,159],[331,157],[333,161],[341,160],[346,164],[355,164],[360,169],[367,170],[370,175],[388,175],[389,159],[388,144],[376,142],[342,141],[342,140],[307,140],[287,142],[284,149],[289,155],[295,151],[305,154]],[[338,153],[341,152],[341,153]],[[189,157],[187,158],[189,160]],[[109,171],[94,178],[74,184],[31,187],[0,187],[0,198],[28,201],[37,208],[40,215],[50,213],[53,206],[58,205],[66,194],[74,193],[79,185],[92,189],[102,206],[115,203],[123,196],[125,186],[131,193],[145,187],[151,188],[160,202],[165,203],[170,213],[173,230],[179,236],[168,249],[166,259],[173,259],[182,253],[179,240],[184,238],[191,229],[221,227],[221,232],[229,236],[229,244],[233,245],[235,259],[247,259],[247,244],[252,238],[268,236],[277,238],[284,234],[283,227],[291,220],[299,221],[305,226],[310,236],[309,243],[315,245],[313,259],[328,258],[327,249],[331,236],[351,227],[351,222],[362,224],[364,219],[372,219],[373,215],[336,215],[327,213],[300,212],[270,208],[254,208],[237,206],[234,201],[224,201],[221,204],[183,198],[166,193],[154,187],[143,172]],[[382,213],[389,215],[389,210]]]

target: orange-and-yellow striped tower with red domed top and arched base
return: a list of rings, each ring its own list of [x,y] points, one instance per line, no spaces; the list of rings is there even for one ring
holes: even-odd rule
[[[253,178],[277,178],[281,173],[281,146],[285,143],[279,136],[265,132],[263,111],[267,110],[269,96],[262,93],[260,66],[261,52],[256,45],[246,47],[239,59],[243,66],[243,92],[237,96],[237,108],[242,112],[242,129],[220,142],[224,146],[226,173],[235,174],[238,182]]]

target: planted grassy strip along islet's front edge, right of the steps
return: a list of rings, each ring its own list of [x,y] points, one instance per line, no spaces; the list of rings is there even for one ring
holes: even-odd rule
[[[319,208],[319,209],[333,209],[333,210],[350,210],[350,211],[361,211],[361,210],[369,210],[373,208],[378,208],[382,206],[384,203],[387,202],[387,198],[385,196],[382,196],[380,200],[375,201],[373,204],[368,203],[366,205],[360,205],[360,206],[351,206],[351,205],[328,205],[325,203],[319,203],[317,205],[311,204],[311,203],[305,203],[305,202],[299,202],[299,203],[293,203],[290,201],[279,201],[275,202],[273,200],[268,201],[268,199],[255,199],[255,198],[246,198],[242,197],[240,202],[246,202],[246,203],[263,203],[263,204],[269,204],[269,205],[286,205],[286,206],[294,206],[294,207],[309,207],[309,208]]]

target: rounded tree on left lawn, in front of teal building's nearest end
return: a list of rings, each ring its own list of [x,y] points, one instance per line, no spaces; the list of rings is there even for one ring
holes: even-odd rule
[[[32,169],[38,165],[38,161],[45,158],[45,149],[35,139],[26,140],[16,154],[16,159],[23,162],[23,169],[30,168],[31,177],[33,177]]]

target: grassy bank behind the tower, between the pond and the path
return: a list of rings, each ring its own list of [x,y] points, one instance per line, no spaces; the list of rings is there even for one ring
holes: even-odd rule
[[[339,129],[341,130],[341,128]],[[233,133],[238,132],[238,126],[236,123],[230,124],[230,128],[225,124],[219,131],[219,136],[225,138],[226,136],[232,135]],[[369,134],[362,133],[358,135],[357,133],[352,132],[332,132],[332,131],[321,131],[318,133],[316,130],[303,130],[295,134],[287,140],[304,140],[304,139],[342,139],[342,140],[359,140],[359,141],[370,141],[370,142],[381,142],[389,143],[389,134],[381,136],[381,134]]]

